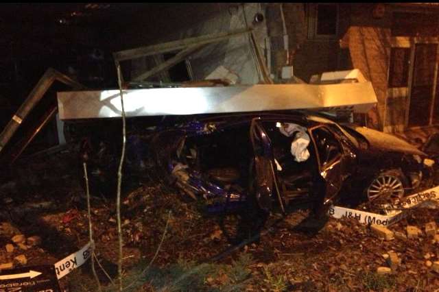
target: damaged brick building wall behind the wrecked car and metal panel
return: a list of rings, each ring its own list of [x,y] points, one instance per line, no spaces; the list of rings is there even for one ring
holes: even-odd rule
[[[434,17],[439,19],[438,8],[436,11],[433,8],[419,8],[422,5],[407,6],[389,3],[177,5],[175,11],[166,12],[169,12],[168,19],[172,18],[172,22],[163,26],[163,29],[157,29],[156,34],[159,37],[152,38],[149,35],[139,36],[138,34],[136,39],[138,46],[151,45],[190,36],[226,32],[247,25],[252,26],[255,29],[259,49],[263,52],[266,66],[274,82],[292,81],[280,78],[281,69],[288,65],[293,65],[294,75],[305,82],[309,82],[311,75],[324,71],[360,69],[372,82],[377,93],[378,104],[366,117],[357,116],[356,121],[386,132],[401,132],[413,126],[430,126],[438,123],[438,119],[434,118],[436,113],[439,113],[439,102],[436,102],[435,100],[438,99],[434,98],[436,93],[426,98],[423,95],[414,98],[416,90],[412,90],[411,86],[413,76],[410,72],[414,70],[415,47],[423,47],[423,43],[431,44],[424,46],[429,47],[425,48],[424,53],[418,52],[422,56],[426,54],[426,50],[434,51],[435,44],[439,47],[439,33],[434,28],[434,25],[438,25],[434,19]],[[413,16],[415,21],[404,22],[404,19],[410,19],[412,16],[395,18],[395,15],[401,12],[401,6],[405,12],[415,15]],[[254,16],[257,13],[264,16],[263,22],[254,23]],[[427,14],[431,15],[429,16],[431,19],[427,17],[425,21],[421,21],[420,19],[425,18]],[[401,21],[403,26],[399,25]],[[163,34],[159,35],[159,32]],[[405,36],[405,34],[408,35]],[[129,35],[132,36],[132,34]],[[131,43],[134,44],[134,42]],[[246,36],[230,38],[230,40],[209,45],[193,54],[189,58],[190,68],[187,68],[184,62],[180,67],[183,71],[191,69],[193,80],[226,77],[232,83],[237,84],[258,83],[261,77],[259,77],[249,44]],[[405,55],[403,53],[401,57],[401,51],[397,52],[399,55],[395,51],[398,47],[409,50],[405,51]],[[406,59],[392,59],[396,58],[395,56],[408,58],[407,60],[410,61],[407,68],[403,69],[407,84],[402,86],[394,84],[389,86],[391,82],[389,76],[393,74],[390,72],[390,67],[400,66],[401,62],[407,61]],[[139,75],[167,58],[169,56],[158,56],[155,59],[149,58],[143,61],[135,60],[131,64],[131,73],[134,76]],[[428,62],[437,64],[438,58],[431,57],[427,60]],[[431,92],[435,92],[433,87],[438,82],[434,80],[434,76],[437,79],[438,74],[433,65],[430,67],[426,69],[429,73],[422,68],[419,70],[428,73]],[[172,75],[171,71],[165,71],[155,77],[155,81],[172,80]],[[190,75],[189,72],[187,75]],[[424,102],[425,100],[427,102]],[[416,107],[416,104],[420,106]],[[416,111],[429,112],[429,118],[417,121],[413,114]],[[410,112],[413,117],[410,116]]]

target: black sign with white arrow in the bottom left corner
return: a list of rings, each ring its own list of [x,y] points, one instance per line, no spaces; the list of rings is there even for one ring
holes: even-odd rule
[[[61,292],[53,265],[5,269],[0,272],[0,292]]]

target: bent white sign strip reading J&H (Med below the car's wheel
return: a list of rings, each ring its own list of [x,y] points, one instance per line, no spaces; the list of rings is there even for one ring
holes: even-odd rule
[[[347,217],[357,219],[361,224],[377,224],[381,226],[391,226],[407,216],[407,210],[422,206],[425,202],[439,202],[439,186],[405,197],[393,206],[388,206],[389,210],[396,210],[392,215],[381,215],[341,206],[329,208],[328,215],[337,219]]]

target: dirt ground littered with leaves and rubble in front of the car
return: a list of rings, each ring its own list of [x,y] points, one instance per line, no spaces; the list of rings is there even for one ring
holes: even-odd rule
[[[88,242],[84,178],[69,153],[27,161],[0,187],[0,263],[24,254],[26,265],[54,264]],[[123,286],[125,291],[439,291],[439,241],[425,234],[439,209],[417,208],[390,230],[417,226],[416,239],[385,241],[352,219],[313,219],[296,203],[287,217],[270,215],[263,227],[245,212],[208,215],[151,175],[126,173]],[[112,186],[112,184],[110,184]],[[115,196],[92,187],[96,264],[104,291],[116,291]],[[12,236],[40,236],[26,250]],[[5,245],[14,245],[7,252]],[[388,254],[400,260],[391,273]],[[105,272],[104,272],[105,271]],[[107,276],[107,275],[108,276]],[[111,279],[111,280],[110,280]],[[60,280],[65,291],[97,291],[90,260]]]

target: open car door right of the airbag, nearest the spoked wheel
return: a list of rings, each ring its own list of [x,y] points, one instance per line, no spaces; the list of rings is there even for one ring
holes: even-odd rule
[[[346,179],[346,158],[340,141],[327,127],[311,127],[309,133],[316,149],[318,172],[322,179],[320,181],[324,184],[324,194],[319,195],[322,196],[321,207],[325,210],[331,206]]]

